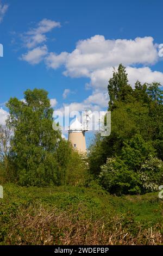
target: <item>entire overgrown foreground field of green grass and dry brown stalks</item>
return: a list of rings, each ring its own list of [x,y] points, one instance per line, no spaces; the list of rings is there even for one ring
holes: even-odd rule
[[[116,197],[95,183],[3,187],[1,245],[162,244],[158,193]]]

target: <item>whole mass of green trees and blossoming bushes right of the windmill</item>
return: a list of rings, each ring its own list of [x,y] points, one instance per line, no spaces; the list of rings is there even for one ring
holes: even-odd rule
[[[140,194],[163,184],[163,97],[160,83],[135,83],[122,64],[108,85],[111,135],[89,149],[91,173],[110,193]]]

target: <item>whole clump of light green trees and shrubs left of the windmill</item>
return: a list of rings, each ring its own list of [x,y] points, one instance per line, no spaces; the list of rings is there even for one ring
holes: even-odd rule
[[[77,184],[86,165],[71,144],[54,131],[48,93],[27,90],[24,101],[11,98],[7,125],[0,129],[1,172],[5,181],[25,186]]]

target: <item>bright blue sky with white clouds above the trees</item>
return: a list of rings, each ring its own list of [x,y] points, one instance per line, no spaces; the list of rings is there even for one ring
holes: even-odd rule
[[[160,1],[0,0],[0,123],[4,102],[30,88],[62,110],[106,109],[112,66],[129,82],[163,84]]]

